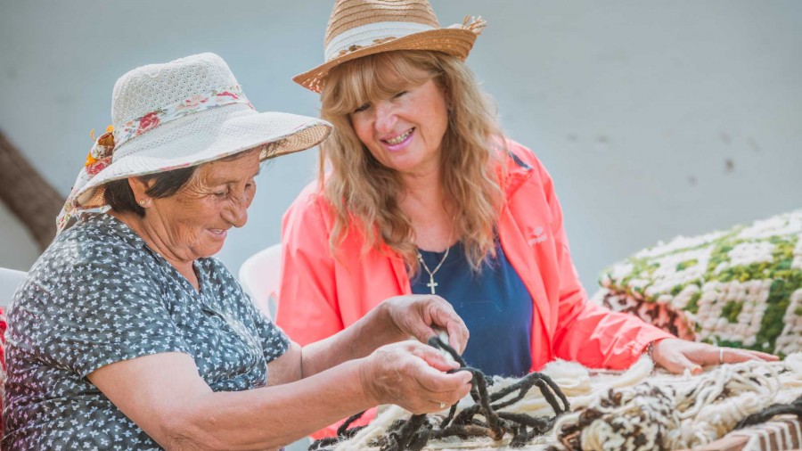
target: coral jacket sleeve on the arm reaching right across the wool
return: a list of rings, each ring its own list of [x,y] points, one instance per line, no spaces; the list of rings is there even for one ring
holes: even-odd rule
[[[554,193],[552,177],[536,161],[551,209],[552,236],[556,242],[559,304],[554,333],[558,358],[595,368],[625,369],[641,356],[652,340],[674,337],[636,316],[612,312],[587,299],[571,261],[562,209]]]

